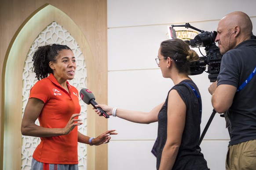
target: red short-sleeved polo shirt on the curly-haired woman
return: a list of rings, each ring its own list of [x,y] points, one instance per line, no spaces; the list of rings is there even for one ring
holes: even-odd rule
[[[69,93],[63,89],[53,74],[44,78],[32,87],[29,98],[44,102],[38,117],[40,126],[63,128],[74,113],[80,113],[78,91],[69,85]],[[40,138],[41,142],[33,153],[33,158],[41,163],[77,164],[77,126],[68,134]]]

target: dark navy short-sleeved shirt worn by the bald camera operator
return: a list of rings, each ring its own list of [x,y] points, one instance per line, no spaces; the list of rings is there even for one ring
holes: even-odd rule
[[[225,53],[221,60],[218,85],[238,88],[256,67],[256,39],[246,40]],[[227,112],[230,120],[229,145],[256,139],[256,76],[236,92]]]

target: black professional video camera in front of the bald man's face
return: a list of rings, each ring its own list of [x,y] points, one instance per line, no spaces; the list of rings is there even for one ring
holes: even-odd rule
[[[210,82],[216,81],[219,75],[220,62],[222,58],[222,55],[219,52],[219,48],[215,43],[217,32],[203,31],[191,26],[189,23],[186,23],[186,25],[171,25],[171,27],[169,27],[170,35],[172,38],[176,38],[175,29],[173,29],[173,27],[192,28],[198,32],[201,32],[201,34],[196,35],[194,39],[185,40],[185,42],[188,43],[192,48],[205,47],[206,52],[206,56],[204,56],[199,49],[203,57],[199,57],[199,60],[190,64],[189,75],[197,75],[203,73],[206,70],[206,65],[208,65],[208,70],[205,72],[208,73]]]

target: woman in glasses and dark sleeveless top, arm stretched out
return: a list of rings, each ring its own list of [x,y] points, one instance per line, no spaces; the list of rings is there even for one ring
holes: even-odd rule
[[[157,141],[153,153],[157,156],[157,170],[208,170],[206,160],[197,145],[200,137],[201,96],[189,78],[190,62],[198,60],[194,50],[181,39],[161,43],[156,62],[164,78],[171,78],[174,86],[165,102],[149,113],[96,105],[108,115],[135,123],[158,121]],[[100,112],[95,110],[98,114]]]

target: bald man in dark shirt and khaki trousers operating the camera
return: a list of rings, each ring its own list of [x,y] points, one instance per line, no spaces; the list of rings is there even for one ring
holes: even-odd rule
[[[226,169],[256,167],[256,39],[251,39],[252,21],[241,11],[224,16],[217,36],[223,55],[217,81],[208,91],[212,106],[224,113],[230,133]]]

